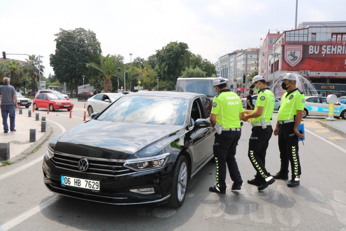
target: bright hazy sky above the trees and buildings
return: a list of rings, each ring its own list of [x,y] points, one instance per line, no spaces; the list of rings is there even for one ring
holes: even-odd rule
[[[345,9],[346,0],[298,0],[297,25],[346,21]],[[0,0],[0,51],[43,56],[48,77],[54,35],[84,28],[96,34],[104,56],[121,54],[125,63],[147,59],[171,41],[215,63],[234,50],[259,47],[269,30],[294,29],[295,10],[296,0]]]

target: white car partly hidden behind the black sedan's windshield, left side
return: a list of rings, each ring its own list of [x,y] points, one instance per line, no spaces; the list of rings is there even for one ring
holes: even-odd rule
[[[89,116],[94,112],[102,112],[111,103],[124,96],[118,93],[100,93],[90,97],[87,101],[87,110]]]

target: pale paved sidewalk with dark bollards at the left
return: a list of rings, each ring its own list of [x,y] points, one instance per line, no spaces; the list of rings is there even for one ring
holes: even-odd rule
[[[9,160],[12,162],[22,159],[27,154],[30,154],[37,146],[41,145],[51,133],[51,128],[48,124],[46,124],[46,132],[41,132],[41,117],[45,116],[45,114],[39,112],[39,120],[36,121],[35,113],[32,113],[31,117],[28,116],[29,110],[32,109],[22,108],[23,114],[20,115],[18,112],[16,115],[15,129],[17,131],[15,132],[8,131],[8,133],[3,133],[1,122],[0,143],[10,143]],[[9,118],[7,119],[7,123],[9,126]],[[29,142],[30,129],[36,129],[35,142]]]

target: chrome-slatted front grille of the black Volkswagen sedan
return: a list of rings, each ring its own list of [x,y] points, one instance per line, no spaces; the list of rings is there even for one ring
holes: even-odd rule
[[[51,158],[50,161],[58,168],[81,172],[78,168],[78,161],[82,158],[86,158],[89,161],[89,167],[84,171],[85,173],[119,176],[134,172],[133,170],[123,167],[125,160],[119,159],[104,159],[54,152],[54,157]]]

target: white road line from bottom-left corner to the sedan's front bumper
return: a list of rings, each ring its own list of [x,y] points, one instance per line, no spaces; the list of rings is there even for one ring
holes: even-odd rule
[[[9,229],[12,229],[13,227],[19,225],[20,223],[24,222],[28,218],[34,216],[36,213],[42,211],[43,209],[45,209],[49,205],[53,204],[58,199],[59,199],[59,195],[58,194],[53,195],[52,197],[50,197],[46,201],[38,204],[37,206],[35,206],[34,208],[30,209],[29,211],[27,211],[27,212],[23,213],[22,215],[19,215],[18,217],[10,220],[9,222],[6,222],[5,224],[1,225],[0,226],[0,231],[7,231]]]

